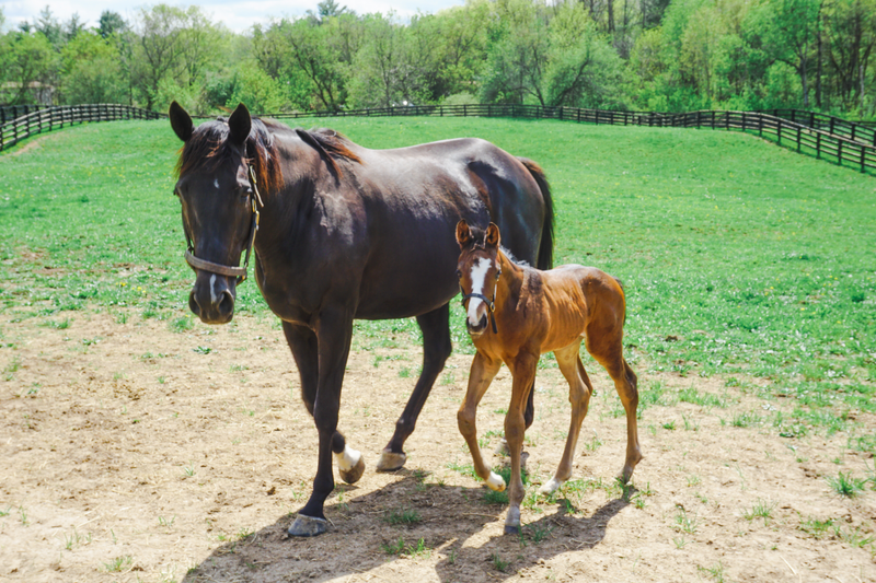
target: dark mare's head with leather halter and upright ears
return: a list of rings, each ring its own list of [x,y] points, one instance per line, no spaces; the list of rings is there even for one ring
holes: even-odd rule
[[[173,102],[170,120],[184,142],[174,194],[182,202],[186,260],[197,273],[188,307],[206,324],[226,324],[234,315],[237,283],[245,277],[238,266],[255,234],[261,205],[255,188],[265,197],[281,180],[276,149],[265,125],[243,104],[228,119],[195,128]]]

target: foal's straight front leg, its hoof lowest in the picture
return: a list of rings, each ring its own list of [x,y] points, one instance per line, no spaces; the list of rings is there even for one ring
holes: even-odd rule
[[[505,518],[505,534],[508,535],[520,534],[520,502],[523,501],[526,493],[520,475],[520,453],[523,451],[523,434],[526,433],[523,409],[529,393],[532,390],[538,363],[538,354],[530,354],[523,350],[517,354],[512,363],[509,363],[514,383],[511,385],[511,404],[508,406],[508,415],[505,416],[505,439],[508,441],[511,456],[511,479],[508,487],[510,505]]]

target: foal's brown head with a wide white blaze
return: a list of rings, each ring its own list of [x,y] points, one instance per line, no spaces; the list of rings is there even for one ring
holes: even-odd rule
[[[484,231],[460,221],[457,223],[457,243],[460,248],[457,277],[466,312],[465,327],[472,338],[479,338],[486,331],[487,320],[492,317],[496,284],[502,276],[499,228],[489,223]]]

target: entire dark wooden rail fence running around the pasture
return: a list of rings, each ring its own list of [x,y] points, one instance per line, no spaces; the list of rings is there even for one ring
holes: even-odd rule
[[[472,104],[411,105],[337,112],[263,114],[263,117],[296,119],[304,117],[514,117],[557,119],[578,124],[646,126],[656,128],[710,128],[737,130],[775,141],[779,145],[815,155],[838,165],[861,172],[876,171],[876,130],[832,116],[799,109],[766,112],[702,110],[683,114],[658,112],[611,112],[578,107],[542,107],[539,105]],[[114,119],[158,119],[164,114],[128,107],[99,104],[39,108],[0,126],[0,150],[42,131],[83,121]]]

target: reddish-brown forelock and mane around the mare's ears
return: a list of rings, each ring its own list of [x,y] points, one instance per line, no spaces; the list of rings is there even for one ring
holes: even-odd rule
[[[283,171],[279,163],[279,151],[274,143],[272,130],[280,130],[286,126],[269,119],[252,118],[250,135],[246,137],[246,151],[243,161],[252,165],[256,185],[262,194],[268,195],[283,187]],[[286,128],[288,129],[288,128]],[[180,150],[176,162],[177,177],[191,172],[215,172],[224,163],[233,162],[241,152],[228,141],[228,119],[198,126],[192,138]]]

